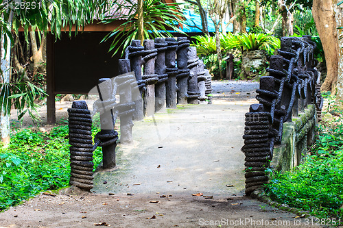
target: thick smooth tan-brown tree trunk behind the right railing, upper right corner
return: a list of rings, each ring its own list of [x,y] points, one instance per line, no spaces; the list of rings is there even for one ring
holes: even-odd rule
[[[327,77],[321,90],[334,94],[338,78],[338,36],[332,0],[314,0],[312,14],[327,62]]]

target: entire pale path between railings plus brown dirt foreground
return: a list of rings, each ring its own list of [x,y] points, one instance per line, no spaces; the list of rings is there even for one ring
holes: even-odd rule
[[[212,105],[135,123],[135,143],[118,147],[116,170],[95,174],[95,194],[40,194],[1,213],[0,227],[306,227],[244,197],[241,136],[257,86],[213,82]]]

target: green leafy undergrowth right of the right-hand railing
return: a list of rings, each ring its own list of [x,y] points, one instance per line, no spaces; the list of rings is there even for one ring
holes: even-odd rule
[[[308,210],[318,218],[343,219],[342,114],[321,123],[316,143],[293,172],[272,173],[266,192],[279,203]]]

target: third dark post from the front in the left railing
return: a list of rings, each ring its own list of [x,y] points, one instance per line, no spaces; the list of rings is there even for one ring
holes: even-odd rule
[[[124,110],[119,112],[120,116],[120,143],[132,143],[132,113],[134,112],[134,103],[132,102],[131,84],[136,81],[133,75],[130,75],[130,60],[119,60],[119,76],[115,77],[119,90],[119,105],[124,106]]]

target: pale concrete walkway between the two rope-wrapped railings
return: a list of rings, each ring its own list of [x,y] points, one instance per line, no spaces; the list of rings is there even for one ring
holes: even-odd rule
[[[178,105],[134,123],[134,144],[119,144],[117,170],[96,173],[93,191],[243,196],[244,114],[257,86],[217,82],[212,105]]]

